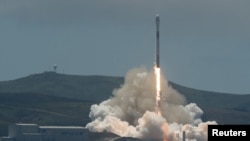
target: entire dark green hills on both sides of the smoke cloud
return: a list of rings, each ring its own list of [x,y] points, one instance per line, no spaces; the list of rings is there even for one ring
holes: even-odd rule
[[[123,77],[79,76],[44,72],[0,82],[0,136],[7,125],[33,122],[40,125],[85,125],[90,106],[112,96]],[[220,124],[250,124],[250,95],[217,93],[169,82],[188,103],[204,111],[203,120]]]

